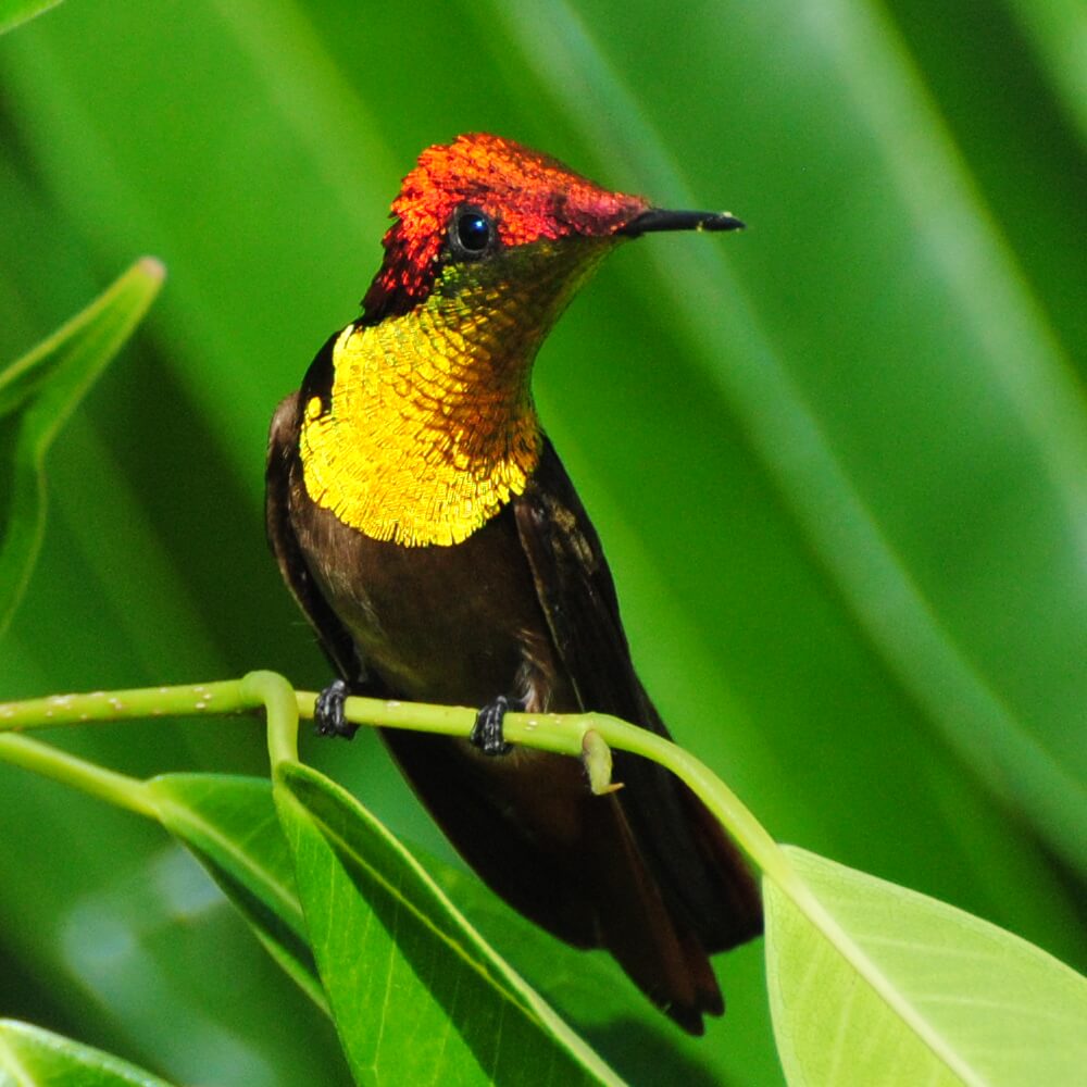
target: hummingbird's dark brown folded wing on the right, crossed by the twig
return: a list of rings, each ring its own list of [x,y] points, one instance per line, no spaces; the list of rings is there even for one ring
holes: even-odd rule
[[[559,654],[586,710],[661,736],[619,614],[600,540],[550,442],[514,502],[517,527]],[[736,847],[686,786],[648,760],[616,752],[617,794],[677,932],[707,951],[762,930],[759,891]]]

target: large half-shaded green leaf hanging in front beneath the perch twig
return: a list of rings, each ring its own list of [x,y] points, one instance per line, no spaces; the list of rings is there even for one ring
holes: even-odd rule
[[[276,773],[310,938],[358,1083],[620,1082],[358,801],[304,766]]]

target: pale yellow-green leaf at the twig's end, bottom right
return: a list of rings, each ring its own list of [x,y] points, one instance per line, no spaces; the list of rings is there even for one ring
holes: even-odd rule
[[[764,880],[766,960],[790,1084],[1075,1087],[1087,979],[954,907],[787,847],[840,926]]]

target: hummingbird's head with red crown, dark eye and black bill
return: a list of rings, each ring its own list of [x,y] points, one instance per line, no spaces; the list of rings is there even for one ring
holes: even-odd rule
[[[427,148],[391,213],[385,260],[362,303],[366,324],[435,299],[467,315],[504,300],[505,286],[548,326],[620,241],[742,225],[725,213],[654,209],[484,133]]]

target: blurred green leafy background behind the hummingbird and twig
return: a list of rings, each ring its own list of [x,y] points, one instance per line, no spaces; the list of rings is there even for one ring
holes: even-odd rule
[[[267,421],[418,151],[497,132],[750,225],[625,247],[537,368],[676,737],[782,840],[1084,969],[1085,72],[1061,0],[68,0],[0,38],[0,360],[170,270],[51,454],[0,692],[327,680],[264,546]],[[249,722],[59,741],[264,765]],[[373,737],[305,754],[448,859]],[[340,1082],[154,828],[3,766],[0,826],[0,1012],[175,1078]],[[635,1082],[779,1079],[761,947],[700,1041],[518,947]]]

